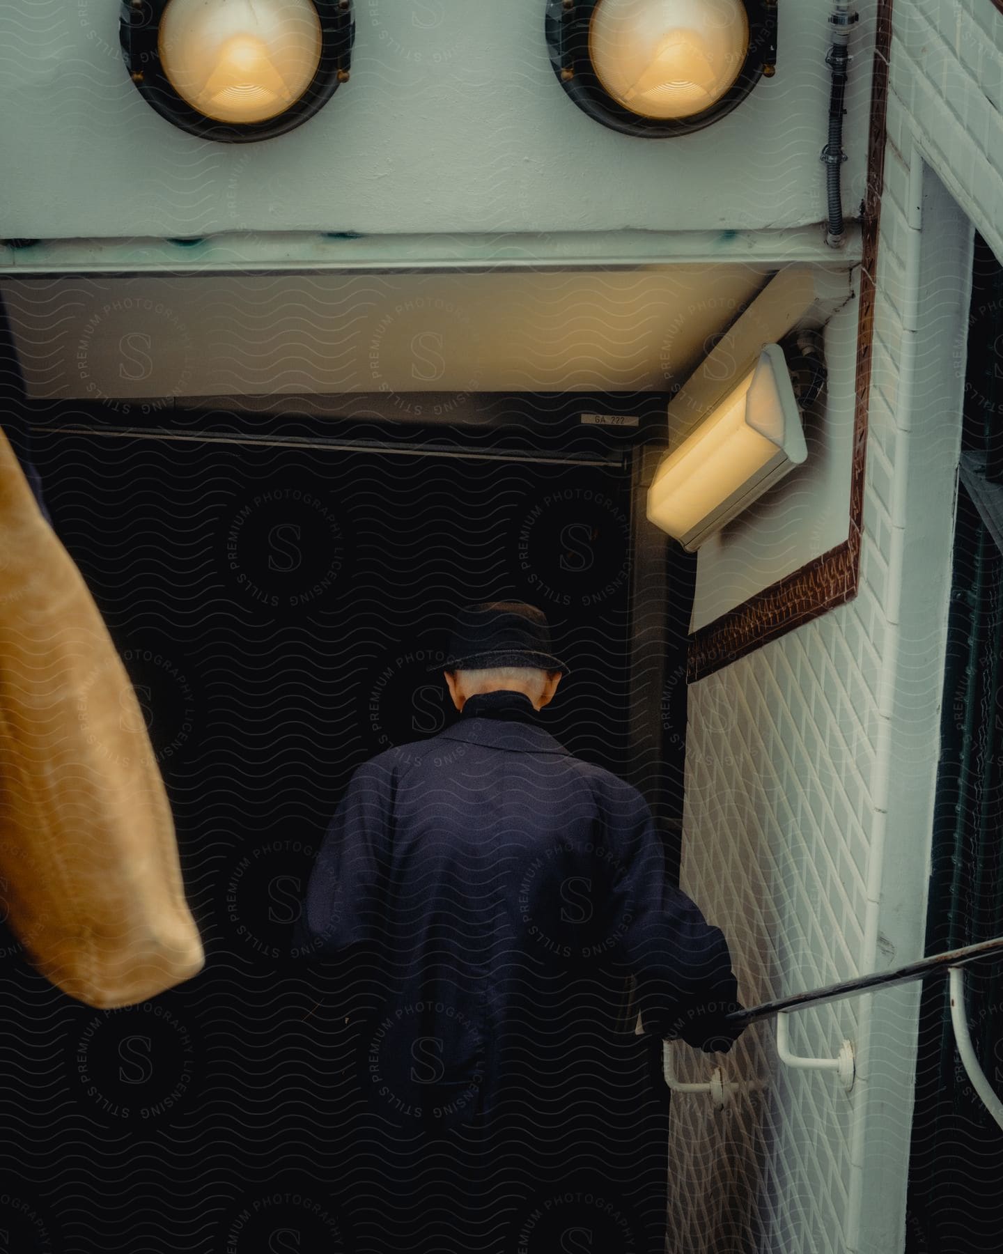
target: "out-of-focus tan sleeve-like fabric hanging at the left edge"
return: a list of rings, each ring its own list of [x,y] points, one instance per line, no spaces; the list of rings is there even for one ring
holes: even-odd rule
[[[1,430],[0,899],[31,964],[88,1006],[206,962],[135,692]]]

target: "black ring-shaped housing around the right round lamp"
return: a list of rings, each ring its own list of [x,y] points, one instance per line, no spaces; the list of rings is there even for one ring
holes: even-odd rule
[[[748,50],[738,76],[710,108],[685,118],[633,113],[603,87],[589,54],[589,29],[603,0],[547,0],[550,65],[567,94],[596,122],[626,135],[664,139],[712,125],[745,100],[760,78],[776,71],[776,0],[742,0],[748,19]]]

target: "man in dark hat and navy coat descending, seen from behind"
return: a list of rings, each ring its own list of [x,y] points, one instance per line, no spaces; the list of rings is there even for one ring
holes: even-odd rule
[[[386,1178],[374,1206],[386,1216],[410,1196],[406,1223],[428,1219],[435,1250],[654,1248],[614,1165],[597,1176],[589,1160],[575,1203],[569,1164],[586,1145],[611,1157],[591,1095],[616,1090],[638,1012],[659,1047],[731,1047],[727,943],[667,883],[641,793],[539,725],[567,673],[543,614],[468,607],[449,652],[459,721],[356,770],[296,932],[306,954],[365,956],[359,1081]],[[421,1233],[399,1239],[365,1254],[425,1248]]]

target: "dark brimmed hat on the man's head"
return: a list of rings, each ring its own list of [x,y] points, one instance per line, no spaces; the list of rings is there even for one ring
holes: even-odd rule
[[[530,666],[569,675],[569,668],[550,648],[550,627],[535,606],[524,601],[485,601],[479,606],[464,606],[456,616],[445,660],[429,670]]]

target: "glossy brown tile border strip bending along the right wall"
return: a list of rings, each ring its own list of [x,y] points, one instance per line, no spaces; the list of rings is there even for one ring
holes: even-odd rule
[[[995,3],[995,0],[994,0]],[[1003,4],[1003,0],[999,0]],[[999,5],[998,5],[999,6]],[[686,680],[692,683],[738,657],[817,618],[856,596],[860,574],[860,533],[864,522],[864,469],[868,446],[870,349],[874,329],[874,282],[878,226],[885,159],[888,59],[891,48],[891,0],[878,0],[874,76],[868,134],[868,182],[861,218],[860,315],[854,406],[854,449],[850,472],[850,530],[835,548],[814,558],[771,587],[690,637]]]

